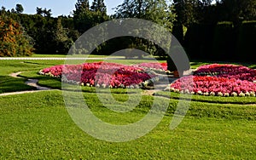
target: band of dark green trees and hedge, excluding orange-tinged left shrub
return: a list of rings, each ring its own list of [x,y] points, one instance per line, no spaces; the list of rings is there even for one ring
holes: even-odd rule
[[[11,10],[2,7],[0,15],[20,23],[32,37],[36,54],[67,54],[79,36],[93,26],[116,18],[140,18],[172,31],[191,59],[231,57],[253,61],[255,22],[251,20],[256,20],[255,6],[255,0],[124,0],[115,8],[115,14],[108,15],[104,0],[93,0],[91,5],[88,0],[78,0],[68,16],[54,18],[51,9],[39,7],[36,14],[22,14],[21,4]],[[113,54],[120,49],[140,49],[166,58],[163,49],[138,37],[111,39],[93,54]]]

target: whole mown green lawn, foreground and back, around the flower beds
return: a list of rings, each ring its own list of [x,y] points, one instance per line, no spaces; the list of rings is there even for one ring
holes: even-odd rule
[[[142,60],[117,61],[131,64]],[[59,79],[40,76],[37,72],[63,63],[63,60],[0,61],[0,92],[32,89],[24,84],[25,79],[8,76],[16,71],[26,71],[22,77],[38,78],[41,85],[61,89]],[[118,113],[108,110],[98,99],[98,96],[107,98],[104,89],[97,94],[95,88],[82,89],[84,100],[96,117],[117,125],[143,118],[153,100],[156,106],[161,107],[163,103],[169,106],[163,120],[151,132],[137,140],[114,143],[97,140],[79,129],[67,112],[61,90],[0,96],[0,159],[256,158],[256,100],[253,97],[195,95],[182,123],[171,130],[169,125],[179,94],[143,95],[136,109]],[[120,102],[127,100],[126,92],[125,89],[112,89],[114,99]],[[139,93],[129,95],[134,95],[134,101],[140,96]]]

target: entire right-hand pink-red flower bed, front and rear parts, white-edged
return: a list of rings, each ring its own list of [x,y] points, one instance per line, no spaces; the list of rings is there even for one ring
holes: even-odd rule
[[[184,94],[218,96],[255,96],[255,70],[245,66],[207,65],[199,67],[195,76],[182,77],[166,89]]]

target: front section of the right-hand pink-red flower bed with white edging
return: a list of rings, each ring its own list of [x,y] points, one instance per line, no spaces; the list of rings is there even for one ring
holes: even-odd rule
[[[225,77],[190,76],[182,77],[172,83],[170,90],[185,94],[255,96],[256,83]]]

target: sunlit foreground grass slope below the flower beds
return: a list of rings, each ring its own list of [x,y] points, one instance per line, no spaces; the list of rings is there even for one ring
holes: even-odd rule
[[[96,116],[109,123],[131,123],[145,114],[137,110],[113,117],[112,111],[98,106],[94,95],[85,95],[90,96],[88,104],[93,104],[90,108]],[[151,100],[145,99],[142,106]],[[253,159],[256,155],[256,124],[245,115],[238,119],[187,116],[175,130],[169,129],[172,117],[166,116],[146,136],[113,143],[80,130],[65,109],[61,91],[0,97],[0,104],[3,159]]]

